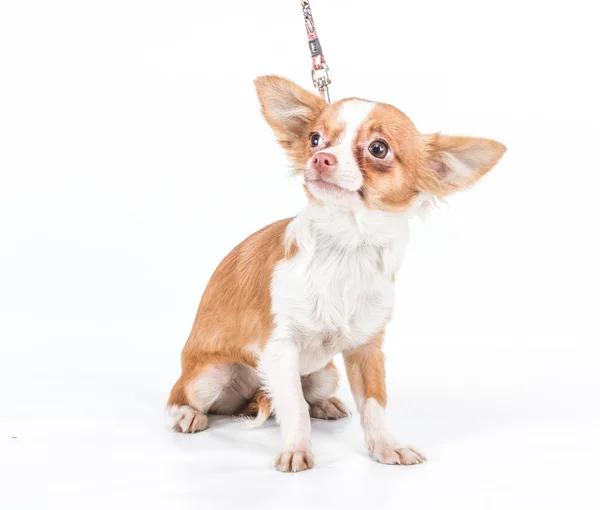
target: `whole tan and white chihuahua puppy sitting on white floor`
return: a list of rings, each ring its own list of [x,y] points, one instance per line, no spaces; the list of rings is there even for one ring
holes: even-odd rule
[[[425,457],[385,423],[382,344],[409,219],[487,173],[505,147],[421,134],[400,110],[363,99],[327,104],[276,76],[255,81],[262,112],[304,177],[306,208],[233,249],[214,272],[168,401],[173,428],[206,415],[271,407],[283,436],[275,466],[310,469],[310,418],[348,410],[335,397],[342,353],[368,450],[384,464]]]

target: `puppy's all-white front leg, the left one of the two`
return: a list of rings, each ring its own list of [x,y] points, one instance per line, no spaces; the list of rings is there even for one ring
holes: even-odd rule
[[[260,370],[283,437],[283,451],[275,467],[285,472],[310,469],[310,417],[300,382],[298,346],[288,339],[269,340]]]

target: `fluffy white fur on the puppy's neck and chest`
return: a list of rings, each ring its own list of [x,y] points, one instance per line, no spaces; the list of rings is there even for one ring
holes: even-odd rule
[[[298,252],[281,261],[271,284],[278,338],[300,349],[300,372],[366,343],[394,308],[393,274],[406,243],[405,215],[309,206],[288,226]]]

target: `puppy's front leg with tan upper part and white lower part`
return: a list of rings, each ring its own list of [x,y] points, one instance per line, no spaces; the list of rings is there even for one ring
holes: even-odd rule
[[[346,372],[365,441],[371,456],[384,464],[419,464],[425,457],[414,448],[401,446],[385,424],[385,366],[381,344],[383,335],[369,344],[344,353]]]

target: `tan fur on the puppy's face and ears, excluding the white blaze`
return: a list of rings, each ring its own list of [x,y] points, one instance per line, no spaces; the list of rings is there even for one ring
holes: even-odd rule
[[[335,145],[344,126],[338,111],[348,98],[327,105],[320,97],[276,76],[255,81],[262,111],[279,143],[302,174],[316,150]],[[313,149],[310,135],[325,134],[325,145]],[[366,151],[369,140],[383,139],[394,153],[393,159],[378,160]],[[445,197],[471,186],[502,157],[506,147],[494,140],[423,135],[400,110],[377,103],[357,134],[355,159],[363,173],[360,195],[371,209],[391,212],[405,210],[420,192]],[[450,165],[453,157],[473,170],[468,176]],[[309,200],[318,201],[308,189]]]

